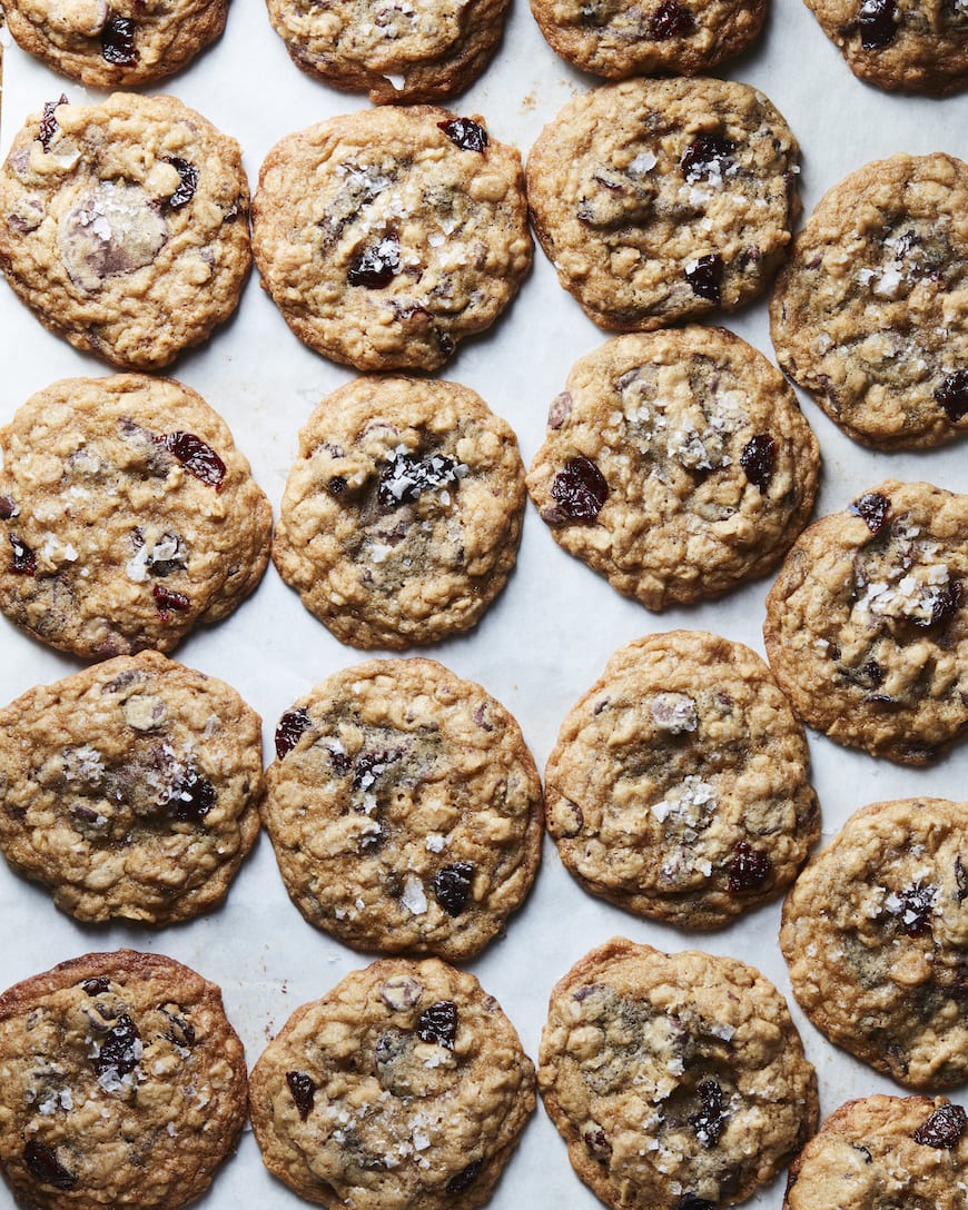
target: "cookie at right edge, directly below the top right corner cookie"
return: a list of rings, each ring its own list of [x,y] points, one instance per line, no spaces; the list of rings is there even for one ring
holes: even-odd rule
[[[831,189],[777,278],[770,330],[780,365],[854,440],[923,449],[968,433],[968,165],[895,155]]]

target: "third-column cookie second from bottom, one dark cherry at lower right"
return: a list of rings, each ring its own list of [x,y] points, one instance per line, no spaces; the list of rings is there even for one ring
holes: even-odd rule
[[[803,728],[760,657],[702,630],[630,643],[569,711],[544,774],[567,871],[620,908],[726,924],[819,837]]]

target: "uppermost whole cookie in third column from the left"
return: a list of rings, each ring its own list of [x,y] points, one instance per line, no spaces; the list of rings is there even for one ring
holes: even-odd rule
[[[535,234],[603,328],[647,332],[766,289],[800,212],[796,139],[724,80],[627,80],[569,102],[528,157]]]

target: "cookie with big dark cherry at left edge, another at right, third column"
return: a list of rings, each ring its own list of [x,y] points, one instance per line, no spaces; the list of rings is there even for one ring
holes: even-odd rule
[[[559,546],[661,610],[770,570],[809,517],[818,471],[783,375],[738,336],[687,327],[576,362],[528,489]]]

